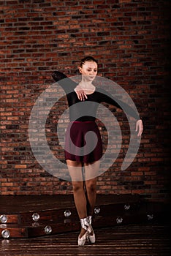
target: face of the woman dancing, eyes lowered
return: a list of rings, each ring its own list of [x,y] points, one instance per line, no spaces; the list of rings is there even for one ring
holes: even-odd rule
[[[79,67],[81,75],[85,75],[86,80],[94,80],[97,74],[97,64],[94,61],[86,61]]]

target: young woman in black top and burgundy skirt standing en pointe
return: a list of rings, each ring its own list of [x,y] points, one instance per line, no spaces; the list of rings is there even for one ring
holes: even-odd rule
[[[108,96],[102,89],[97,90],[93,85],[92,82],[96,78],[97,69],[97,61],[88,56],[80,62],[80,83],[77,84],[69,78],[67,78],[66,82],[66,79],[63,79],[66,78],[66,75],[61,72],[55,71],[52,74],[53,79],[58,81],[58,84],[65,90],[69,107],[72,107],[69,111],[71,123],[66,131],[65,158],[72,178],[75,206],[80,217],[79,246],[83,246],[87,239],[91,244],[94,244],[96,239],[91,226],[91,219],[96,203],[96,177],[98,176],[96,173],[98,173],[102,157],[102,140],[95,122],[97,103],[106,102],[121,108],[113,97]],[[83,104],[77,104],[79,102]],[[140,136],[143,129],[142,120],[129,106],[126,107],[126,110],[130,116],[137,119],[136,131],[137,136]],[[86,141],[86,133],[90,131],[96,134],[96,141],[91,139]],[[76,147],[73,147],[71,141]],[[88,149],[94,149],[92,151],[89,150],[90,152],[84,152],[86,145],[89,146]],[[82,177],[83,167],[86,175],[85,181],[83,181]]]

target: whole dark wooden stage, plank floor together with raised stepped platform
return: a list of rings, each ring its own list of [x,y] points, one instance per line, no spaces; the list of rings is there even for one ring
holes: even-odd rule
[[[138,195],[97,195],[95,208],[96,244],[80,247],[73,195],[0,196],[0,255],[171,255],[168,206]]]

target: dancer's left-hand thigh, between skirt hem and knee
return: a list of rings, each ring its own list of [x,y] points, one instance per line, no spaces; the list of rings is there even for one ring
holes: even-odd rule
[[[72,181],[83,181],[83,167],[81,162],[66,160]]]

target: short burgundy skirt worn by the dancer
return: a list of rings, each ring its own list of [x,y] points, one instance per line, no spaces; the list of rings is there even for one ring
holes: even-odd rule
[[[91,163],[102,157],[102,139],[95,121],[69,123],[65,137],[65,159]]]

